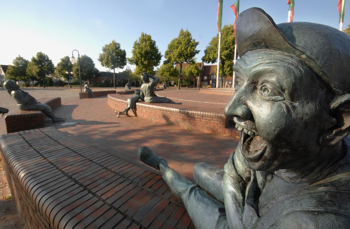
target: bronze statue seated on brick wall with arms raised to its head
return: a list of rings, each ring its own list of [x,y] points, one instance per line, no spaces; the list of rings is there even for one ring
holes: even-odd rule
[[[149,78],[153,79],[152,82],[150,82]],[[168,99],[167,97],[158,97],[155,94],[154,88],[159,83],[160,78],[149,75],[147,72],[144,72],[141,74],[141,80],[141,98],[144,99],[146,103],[173,103],[179,105],[182,104],[175,103],[173,100]]]

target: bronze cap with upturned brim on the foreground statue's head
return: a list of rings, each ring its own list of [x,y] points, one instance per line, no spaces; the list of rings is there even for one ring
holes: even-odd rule
[[[239,56],[255,49],[279,50],[306,62],[337,94],[350,93],[350,36],[309,22],[276,25],[265,11],[250,8],[236,22]]]

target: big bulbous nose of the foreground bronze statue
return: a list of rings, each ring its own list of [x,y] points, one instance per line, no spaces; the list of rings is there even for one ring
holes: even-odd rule
[[[226,117],[241,117],[244,119],[250,119],[252,118],[252,112],[246,105],[243,93],[236,92],[232,98],[230,99],[230,102],[226,105],[224,110],[224,115]]]

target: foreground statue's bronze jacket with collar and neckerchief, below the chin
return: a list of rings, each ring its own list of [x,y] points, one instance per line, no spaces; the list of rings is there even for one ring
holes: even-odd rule
[[[332,166],[335,169],[328,176],[311,183],[288,183],[276,173],[250,170],[245,165],[238,146],[224,167],[223,191],[228,227],[260,229],[349,226],[349,143],[349,137],[343,140],[347,152]]]

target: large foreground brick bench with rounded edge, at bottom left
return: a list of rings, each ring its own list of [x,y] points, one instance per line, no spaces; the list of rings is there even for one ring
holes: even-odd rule
[[[27,229],[194,229],[161,175],[54,127],[4,134],[0,151]]]

